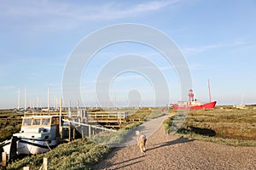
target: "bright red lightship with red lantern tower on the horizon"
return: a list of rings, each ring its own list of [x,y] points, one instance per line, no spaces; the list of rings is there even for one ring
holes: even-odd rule
[[[193,110],[213,109],[215,107],[216,103],[217,103],[216,101],[210,101],[207,104],[201,104],[200,101],[194,99],[193,90],[190,89],[189,90],[189,101],[178,102],[177,104],[172,105],[172,108],[173,109],[193,109]]]

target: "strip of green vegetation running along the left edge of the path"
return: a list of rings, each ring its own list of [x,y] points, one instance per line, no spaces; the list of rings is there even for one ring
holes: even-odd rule
[[[42,166],[43,158],[49,158],[49,169],[91,169],[96,162],[101,161],[104,156],[111,152],[108,144],[118,144],[124,139],[125,135],[129,135],[131,131],[126,131],[142,124],[149,116],[160,116],[162,113],[155,111],[151,114],[150,108],[143,108],[136,111],[131,117],[139,121],[126,122],[125,127],[120,129],[118,133],[109,135],[108,133],[98,133],[92,140],[77,139],[68,144],[60,144],[54,150],[50,150],[44,154],[36,156],[26,156],[23,159],[13,161],[7,169],[21,169],[22,167],[30,167],[31,169],[39,169]],[[101,141],[102,139],[102,141]],[[108,141],[108,143],[105,143]]]

